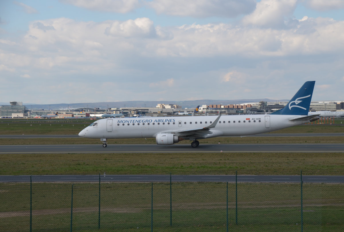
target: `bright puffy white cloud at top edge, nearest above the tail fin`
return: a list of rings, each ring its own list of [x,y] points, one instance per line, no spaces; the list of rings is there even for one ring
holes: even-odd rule
[[[243,18],[244,25],[283,28],[285,18],[293,14],[297,0],[261,0],[256,10]]]

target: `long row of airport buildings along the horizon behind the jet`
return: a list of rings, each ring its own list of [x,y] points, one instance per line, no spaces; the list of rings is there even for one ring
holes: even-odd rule
[[[199,111],[194,113],[194,108],[185,108],[173,104],[158,104],[150,107],[123,107],[123,108],[77,108],[55,110],[28,110],[22,102],[12,101],[10,105],[0,106],[0,117],[40,117],[40,115],[54,115],[56,118],[88,118],[101,117],[103,114],[119,114],[123,111],[129,117],[150,116],[204,116],[204,115],[235,115],[235,114],[269,114],[282,109],[288,102],[248,102],[244,104],[211,104],[202,105]],[[344,110],[344,101],[312,101],[310,111],[336,111]]]

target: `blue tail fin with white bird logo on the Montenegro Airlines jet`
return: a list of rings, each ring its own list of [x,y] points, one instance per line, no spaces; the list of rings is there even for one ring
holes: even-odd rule
[[[271,114],[308,115],[315,81],[306,81],[283,109]]]

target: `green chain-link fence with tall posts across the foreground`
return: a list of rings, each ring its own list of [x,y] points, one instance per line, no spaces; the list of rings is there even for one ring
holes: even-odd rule
[[[100,177],[87,183],[0,183],[0,199],[0,231],[344,228],[344,184],[301,178],[300,183],[125,183]]]

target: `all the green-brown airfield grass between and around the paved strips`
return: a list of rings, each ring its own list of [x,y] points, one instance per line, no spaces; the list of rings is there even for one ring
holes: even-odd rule
[[[341,133],[344,124],[295,126],[271,133]],[[0,119],[0,134],[78,134],[89,120]],[[155,139],[109,140],[154,143]],[[334,137],[217,137],[201,143],[344,143]],[[0,144],[99,144],[97,139],[0,139]],[[182,143],[190,143],[182,141]],[[0,154],[0,175],[344,175],[342,153]],[[226,183],[33,183],[33,231],[225,231]],[[300,183],[228,184],[228,231],[300,231]],[[342,231],[343,184],[303,184],[303,229]],[[153,205],[151,205],[153,199]],[[153,214],[151,207],[153,206]],[[0,231],[28,231],[30,184],[0,183]],[[153,216],[151,218],[151,216]],[[101,227],[98,229],[98,220]]]

